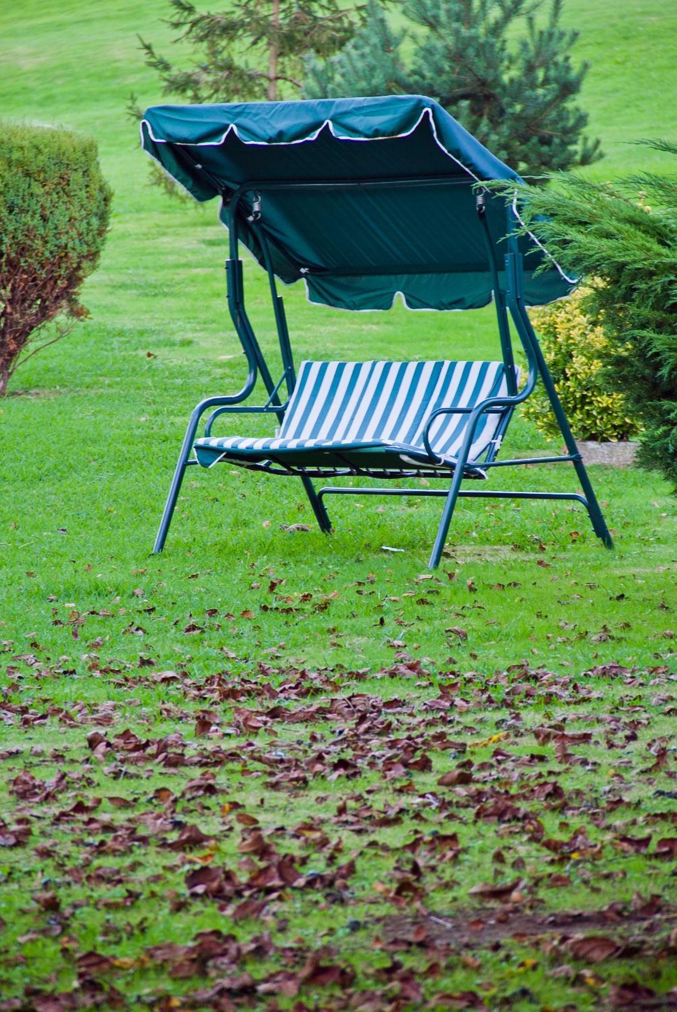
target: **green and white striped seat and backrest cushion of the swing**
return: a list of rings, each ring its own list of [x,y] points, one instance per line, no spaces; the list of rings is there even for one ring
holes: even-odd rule
[[[267,459],[303,467],[310,458],[330,466],[343,460],[345,467],[347,457],[354,459],[356,452],[367,449],[372,451],[371,467],[379,456],[382,467],[429,467],[422,433],[433,411],[473,407],[505,394],[503,362],[304,361],[278,435],[209,436],[197,440],[195,452],[204,467],[218,460],[247,465]],[[480,417],[470,463],[487,451],[501,418]],[[447,465],[456,461],[467,424],[467,414],[442,415],[433,421],[430,445]]]

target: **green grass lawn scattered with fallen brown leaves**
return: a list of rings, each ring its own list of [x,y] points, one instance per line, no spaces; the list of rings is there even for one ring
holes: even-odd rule
[[[589,171],[660,170],[624,142],[675,136],[674,4],[565,9],[607,152]],[[677,986],[674,499],[592,469],[613,553],[577,508],[463,504],[430,575],[439,502],[330,499],[325,538],[280,529],[309,522],[296,482],[194,469],[150,556],[191,408],[245,374],[215,208],[149,187],[124,113],[160,100],[135,33],[168,38],[164,12],[0,14],[3,114],[93,133],[115,190],[90,319],[0,405],[0,1010],[641,1008],[637,982]],[[489,312],[285,299],[299,357],[495,353]],[[520,419],[510,439],[544,448]],[[597,964],[577,933],[625,947]]]

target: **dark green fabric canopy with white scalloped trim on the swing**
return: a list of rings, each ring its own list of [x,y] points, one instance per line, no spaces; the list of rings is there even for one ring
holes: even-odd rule
[[[383,310],[399,292],[410,309],[462,310],[492,299],[476,184],[519,176],[430,98],[159,105],[146,112],[141,143],[198,200],[220,196],[224,224],[231,195],[257,184],[239,199],[240,237],[263,263],[265,233],[275,274],[303,278],[313,303]],[[491,192],[485,200],[504,288],[518,212]],[[535,238],[517,247],[527,305],[571,291],[575,281]],[[536,273],[544,257],[548,269]]]

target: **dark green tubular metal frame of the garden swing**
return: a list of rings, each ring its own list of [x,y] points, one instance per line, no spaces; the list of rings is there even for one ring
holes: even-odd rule
[[[201,166],[195,163],[197,169],[201,169]],[[203,172],[205,170],[202,170]],[[205,173],[208,175],[208,173]],[[211,178],[211,177],[210,177]],[[212,183],[214,182],[211,179]],[[227,279],[227,302],[228,310],[230,312],[230,317],[232,319],[235,331],[239,337],[240,343],[245,350],[247,356],[249,372],[245,386],[239,391],[239,393],[234,394],[230,397],[210,397],[201,401],[197,407],[194,409],[188,427],[186,429],[186,434],[181,446],[181,451],[179,453],[179,459],[177,460],[176,469],[174,471],[174,478],[172,480],[172,485],[170,487],[169,495],[167,497],[167,502],[165,504],[165,509],[163,512],[162,520],[160,523],[160,528],[158,530],[158,535],[156,537],[156,542],[154,546],[154,552],[162,552],[165,541],[167,539],[167,533],[172,520],[172,515],[176,506],[176,502],[181,490],[181,485],[183,482],[183,477],[186,468],[191,465],[197,463],[197,460],[193,457],[191,458],[191,452],[193,449],[193,444],[195,442],[195,437],[198,429],[198,425],[202,416],[206,411],[212,409],[206,425],[205,425],[205,436],[211,433],[211,428],[214,420],[221,414],[239,414],[239,413],[252,413],[252,414],[262,414],[262,413],[272,413],[277,416],[279,420],[284,417],[284,412],[287,407],[288,399],[284,403],[280,400],[280,390],[284,385],[286,387],[288,397],[291,395],[294,385],[296,383],[296,373],[294,369],[294,361],[291,350],[291,343],[289,340],[289,331],[287,328],[287,321],[284,312],[284,305],[281,296],[277,292],[277,286],[275,281],[275,273],[273,270],[272,258],[270,254],[270,247],[267,236],[263,229],[260,227],[260,220],[262,215],[262,194],[267,191],[281,190],[281,189],[297,189],[297,190],[316,190],[316,189],[326,189],[326,190],[336,190],[336,189],[348,189],[348,188],[369,188],[371,186],[425,186],[425,185],[440,185],[441,183],[449,185],[459,185],[458,180],[450,180],[447,178],[430,177],[429,179],[399,179],[399,180],[369,180],[367,182],[354,182],[354,181],[327,181],[327,182],[312,182],[312,183],[300,183],[300,182],[289,182],[283,183],[279,181],[270,182],[258,182],[258,183],[245,183],[238,187],[232,187],[232,191],[222,190],[224,206],[228,210],[228,236],[229,236],[229,257],[226,261],[226,279]],[[464,185],[468,183],[464,180]],[[244,198],[249,197],[251,202],[251,207],[247,207]],[[486,222],[485,214],[485,193],[480,189],[477,193],[477,212],[479,221],[481,223],[483,234],[485,237],[485,245],[487,251],[487,258],[490,265],[490,269],[493,275],[493,290],[494,290],[494,303],[496,308],[496,316],[498,323],[498,332],[501,343],[501,351],[503,356],[503,361],[506,367],[506,376],[508,385],[508,393],[504,397],[493,397],[488,398],[479,404],[475,405],[473,408],[441,408],[432,412],[428,419],[426,420],[425,429],[423,433],[423,445],[426,452],[429,455],[429,463],[427,466],[425,462],[421,462],[420,468],[406,468],[403,469],[393,468],[385,470],[375,470],[375,469],[361,469],[355,465],[351,465],[346,461],[346,468],[335,468],[335,467],[309,467],[309,468],[299,468],[299,467],[289,467],[281,460],[275,460],[271,458],[264,463],[252,463],[245,465],[248,470],[252,471],[264,471],[269,474],[286,475],[290,477],[300,478],[303,484],[303,488],[308,497],[310,505],[312,507],[313,513],[319,527],[325,533],[331,531],[331,523],[329,521],[328,514],[324,507],[324,497],[327,495],[415,495],[415,496],[437,496],[446,499],[442,518],[438,527],[437,536],[434,539],[434,544],[432,552],[430,554],[428,566],[430,569],[434,569],[442,558],[442,552],[447,539],[447,534],[449,532],[449,527],[452,521],[452,516],[454,515],[454,509],[456,507],[457,500],[459,498],[496,498],[496,499],[550,499],[550,500],[573,500],[575,502],[581,503],[585,506],[590,522],[592,524],[595,534],[602,540],[604,545],[608,549],[612,547],[611,536],[609,534],[608,528],[602,516],[599,504],[595,497],[592,485],[588,478],[587,471],[581,455],[578,452],[575,439],[572,435],[569,423],[567,421],[566,415],[562,408],[562,404],[558,397],[553,378],[546,364],[546,360],[543,356],[541,346],[539,345],[538,338],[534,332],[531,324],[529,322],[528,316],[526,314],[526,308],[524,306],[523,293],[522,293],[522,258],[517,251],[517,245],[514,238],[514,218],[511,207],[506,208],[508,218],[508,252],[505,255],[505,271],[507,277],[507,284],[505,290],[501,288],[499,283],[498,266],[496,263],[496,257],[494,253],[494,245],[491,240],[488,225]],[[275,314],[275,323],[278,333],[278,339],[280,343],[280,352],[282,356],[283,372],[277,384],[273,382],[270,370],[264,358],[263,352],[259,346],[259,342],[255,336],[252,324],[247,315],[247,310],[245,308],[245,292],[243,284],[243,263],[238,257],[238,245],[239,245],[239,222],[244,218],[248,225],[251,227],[253,233],[255,234],[257,241],[261,246],[263,253],[264,264],[266,271],[268,273],[271,298],[273,301],[273,310]],[[288,253],[285,251],[285,255]],[[301,265],[297,265],[301,266]],[[484,266],[484,264],[482,265]],[[438,265],[437,270],[444,272],[444,265]],[[307,272],[307,271],[306,271]],[[358,272],[356,270],[356,272]],[[359,271],[363,273],[362,270]],[[342,273],[347,273],[346,271]],[[518,393],[516,389],[516,382],[514,375],[514,361],[512,355],[512,343],[510,340],[510,327],[509,319],[512,320],[514,328],[519,336],[522,348],[526,355],[526,360],[528,363],[528,373],[526,377],[526,384],[523,389]],[[241,406],[241,402],[246,401],[252,392],[254,391],[257,383],[258,375],[261,374],[261,378],[264,383],[266,391],[268,393],[268,400],[264,405],[256,407],[245,407]],[[527,458],[517,458],[509,460],[497,460],[496,454],[500,447],[501,439],[505,433],[507,425],[510,421],[510,417],[515,407],[525,401],[534,391],[534,388],[541,378],[543,382],[546,393],[549,397],[555,417],[557,419],[558,425],[564,437],[565,445],[567,448],[567,453],[559,456],[541,456],[541,457],[527,457]],[[430,425],[437,417],[442,414],[461,414],[466,413],[469,415],[468,425],[466,428],[464,440],[461,446],[461,450],[458,454],[456,466],[451,469],[446,462],[433,451],[430,446],[428,433]],[[500,413],[503,415],[500,425],[497,429],[496,436],[489,447],[486,459],[481,463],[481,466],[473,467],[473,465],[468,463],[468,456],[470,449],[473,445],[474,434],[477,428],[480,417],[484,413]],[[340,454],[334,454],[338,455]],[[233,461],[230,461],[233,462]],[[573,463],[578,477],[582,494],[580,493],[569,493],[569,492],[512,492],[512,491],[494,491],[494,490],[470,490],[462,489],[461,483],[464,479],[472,479],[483,477],[482,472],[488,468],[504,468],[513,467],[520,465],[531,465],[531,463]],[[442,466],[442,467],[441,467]],[[481,470],[480,470],[481,468]],[[479,474],[478,474],[479,471]],[[395,478],[413,478],[413,477],[426,477],[434,479],[447,479],[451,478],[451,486],[449,489],[401,489],[401,488],[358,488],[358,487],[337,487],[328,486],[321,488],[317,492],[312,484],[311,478],[341,478],[348,476],[358,476],[365,478],[378,478],[378,479],[395,479]]]

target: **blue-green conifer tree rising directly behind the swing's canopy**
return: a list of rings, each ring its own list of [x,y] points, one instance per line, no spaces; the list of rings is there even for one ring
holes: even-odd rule
[[[534,0],[404,0],[413,56],[370,0],[364,27],[329,59],[306,60],[310,97],[424,94],[436,98],[502,161],[527,176],[601,157],[583,136],[575,96],[587,72],[575,67],[578,32],[560,24],[562,0],[545,22]],[[520,29],[520,30],[516,30]]]

